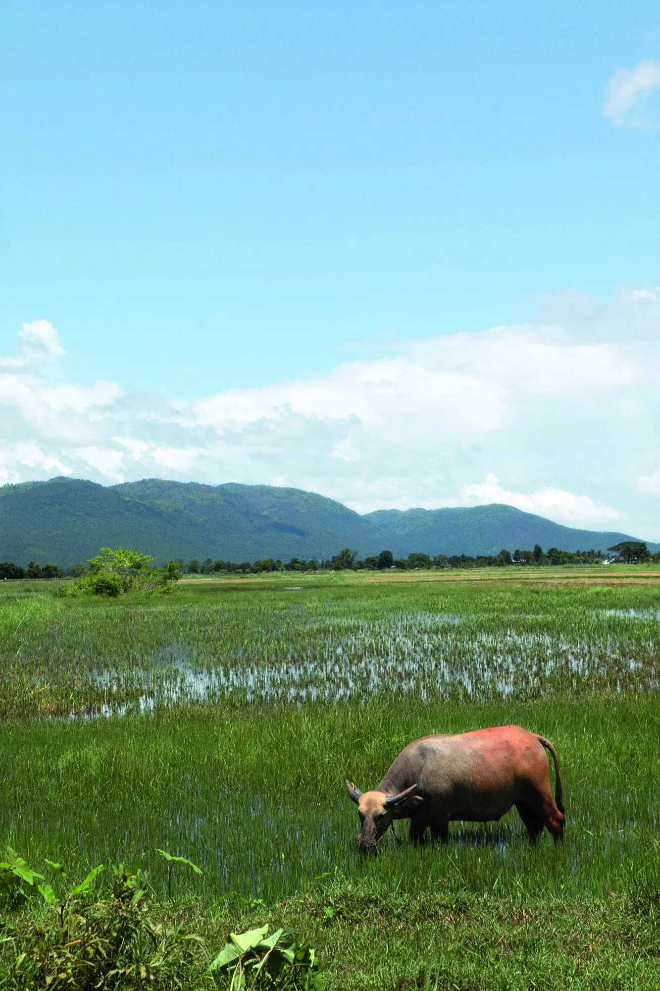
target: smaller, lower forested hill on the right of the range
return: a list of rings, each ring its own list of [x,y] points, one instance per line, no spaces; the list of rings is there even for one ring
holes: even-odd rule
[[[497,554],[502,547],[508,551],[516,547],[531,550],[534,544],[546,551],[549,547],[605,551],[619,540],[639,539],[621,533],[576,530],[498,502],[456,509],[379,509],[364,518],[379,527],[385,543],[402,542],[411,550],[422,550],[431,556],[476,557]],[[655,546],[649,544],[649,548]]]

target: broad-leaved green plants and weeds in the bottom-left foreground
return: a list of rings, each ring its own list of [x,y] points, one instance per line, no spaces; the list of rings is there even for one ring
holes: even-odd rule
[[[157,852],[170,868],[179,864],[201,874],[187,858],[171,856],[161,849]],[[44,875],[32,870],[11,847],[7,847],[7,853],[8,861],[0,864],[0,892],[4,892],[0,902],[16,911],[25,906],[30,896],[41,894],[43,905],[54,909],[56,918],[56,925],[49,925],[50,920],[55,922],[54,916],[44,918],[36,904],[33,914],[27,916],[27,926],[8,927],[0,920],[0,934],[3,929],[12,934],[0,936],[0,968],[3,962],[9,962],[3,949],[11,944],[13,959],[4,972],[9,976],[9,986],[17,991],[35,986],[79,991],[170,988],[172,981],[180,986],[195,977],[198,986],[211,987],[216,986],[211,977],[216,971],[227,973],[236,991],[248,986],[322,989],[322,975],[309,942],[281,929],[269,937],[268,926],[255,933],[231,934],[225,949],[204,973],[202,961],[209,958],[205,940],[191,933],[181,935],[180,927],[164,927],[148,915],[151,884],[140,861],[130,867],[123,863],[113,867],[110,897],[98,897],[96,881],[103,870],[99,864],[80,884],[57,898],[51,885],[39,883]],[[60,882],[66,881],[60,863],[48,859],[45,862]],[[91,895],[95,896],[94,905],[85,908],[83,902]],[[264,907],[261,899],[253,902],[255,908]],[[195,949],[201,949],[203,956],[195,954]],[[7,986],[1,969],[0,986]]]

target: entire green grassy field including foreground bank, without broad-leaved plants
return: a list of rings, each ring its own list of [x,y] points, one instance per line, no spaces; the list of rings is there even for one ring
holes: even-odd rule
[[[659,577],[549,571],[114,601],[3,583],[0,859],[81,879],[142,857],[155,925],[195,939],[166,976],[103,987],[229,987],[208,959],[266,923],[312,941],[326,989],[660,987]],[[359,857],[346,777],[511,722],[557,748],[563,844],[530,846],[513,810],[421,849],[399,823]],[[51,917],[0,905],[0,988],[30,986],[17,960]]]

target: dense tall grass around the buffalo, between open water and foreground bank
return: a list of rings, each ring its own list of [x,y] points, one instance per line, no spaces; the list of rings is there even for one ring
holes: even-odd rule
[[[513,811],[489,826],[453,824],[449,846],[421,852],[401,824],[400,844],[390,833],[384,855],[358,858],[345,777],[374,787],[410,739],[506,722],[546,734],[559,751],[563,845],[546,835],[530,849]],[[660,872],[658,738],[648,697],[19,722],[3,732],[0,834],[29,860],[63,859],[77,874],[146,852],[159,883],[155,848],[181,852],[203,868],[198,890],[210,898],[279,899],[335,868],[369,878],[384,897],[392,885],[432,893],[439,877],[480,895],[633,894]]]

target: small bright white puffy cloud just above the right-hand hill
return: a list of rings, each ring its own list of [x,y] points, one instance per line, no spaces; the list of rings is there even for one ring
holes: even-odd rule
[[[485,482],[465,486],[463,491],[470,502],[476,505],[504,502],[524,512],[535,512],[539,516],[550,516],[552,519],[564,520],[568,523],[593,523],[595,520],[610,523],[625,516],[625,513],[610,505],[594,502],[589,495],[573,495],[563,489],[552,489],[549,486],[544,486],[530,495],[507,492],[501,488],[499,479],[493,474],[487,475]]]

